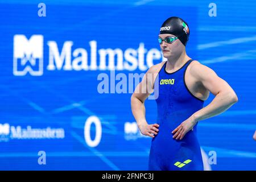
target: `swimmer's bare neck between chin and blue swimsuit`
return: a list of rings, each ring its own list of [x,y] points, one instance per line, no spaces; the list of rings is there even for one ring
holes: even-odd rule
[[[189,57],[187,55],[185,50],[180,55],[168,57],[167,64],[166,64],[166,70],[174,71],[176,69],[179,69],[190,59],[191,59],[191,57]]]

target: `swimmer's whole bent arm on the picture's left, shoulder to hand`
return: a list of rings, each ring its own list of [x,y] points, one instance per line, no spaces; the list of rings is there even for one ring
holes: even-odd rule
[[[148,69],[146,75],[143,77],[142,82],[140,82],[136,89],[134,90],[133,95],[131,96],[131,111],[133,116],[137,122],[139,130],[143,135],[147,135],[149,137],[154,138],[154,135],[158,134],[158,127],[157,123],[152,125],[148,125],[146,121],[146,109],[144,105],[144,101],[150,94],[153,92],[152,88],[152,79],[148,79],[148,76],[151,76],[148,73],[151,73],[152,69]],[[153,74],[152,74],[153,76]],[[154,134],[154,135],[152,135]]]

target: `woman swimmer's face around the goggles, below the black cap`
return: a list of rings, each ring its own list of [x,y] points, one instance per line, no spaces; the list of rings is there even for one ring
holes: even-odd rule
[[[172,34],[159,34],[158,36],[162,39],[166,39],[168,37],[175,37]],[[184,51],[185,46],[183,45],[183,43],[180,42],[179,39],[176,39],[171,44],[163,41],[162,44],[160,44],[160,48],[163,52],[163,56],[168,58],[180,56],[181,53]]]

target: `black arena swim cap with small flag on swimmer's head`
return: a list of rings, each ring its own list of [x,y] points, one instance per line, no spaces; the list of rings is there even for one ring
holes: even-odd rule
[[[186,46],[189,37],[188,24],[183,19],[172,16],[164,21],[159,34],[175,35]]]

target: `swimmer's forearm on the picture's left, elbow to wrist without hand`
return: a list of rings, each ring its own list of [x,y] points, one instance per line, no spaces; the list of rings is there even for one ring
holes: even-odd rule
[[[143,124],[147,123],[146,117],[145,117],[146,109],[145,109],[144,102],[142,102],[135,96],[131,96],[131,111],[133,113],[133,116],[139,128]]]

